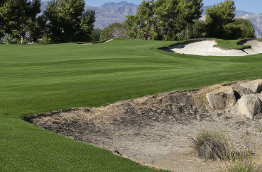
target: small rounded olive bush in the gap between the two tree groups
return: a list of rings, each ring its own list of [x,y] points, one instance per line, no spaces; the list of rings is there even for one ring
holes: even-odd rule
[[[123,24],[115,22],[101,31],[100,40],[119,37],[127,38],[126,32],[126,28]]]

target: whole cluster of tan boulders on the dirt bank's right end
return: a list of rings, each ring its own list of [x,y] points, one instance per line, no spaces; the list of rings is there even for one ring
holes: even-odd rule
[[[234,86],[221,86],[206,93],[211,109],[225,110],[235,108],[238,114],[251,119],[262,113],[262,79],[242,82]]]

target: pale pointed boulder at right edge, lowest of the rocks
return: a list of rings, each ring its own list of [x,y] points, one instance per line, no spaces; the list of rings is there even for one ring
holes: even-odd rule
[[[244,95],[238,100],[238,110],[253,119],[257,113],[262,112],[262,101],[255,94]]]

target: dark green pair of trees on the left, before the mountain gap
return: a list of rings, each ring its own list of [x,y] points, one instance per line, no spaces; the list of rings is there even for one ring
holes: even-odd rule
[[[41,16],[41,0],[0,0],[0,37],[24,44],[42,38],[50,43],[89,41],[95,11],[84,0],[51,0]]]

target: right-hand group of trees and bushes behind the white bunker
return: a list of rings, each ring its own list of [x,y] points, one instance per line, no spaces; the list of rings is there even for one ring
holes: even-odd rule
[[[254,25],[236,19],[235,2],[224,0],[205,11],[201,21],[202,0],[143,0],[136,15],[127,16],[101,31],[101,39],[116,37],[143,40],[179,41],[194,38],[236,40],[255,38]],[[117,35],[116,32],[119,32]]]

